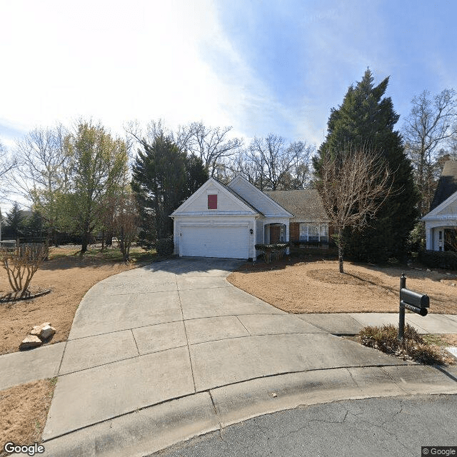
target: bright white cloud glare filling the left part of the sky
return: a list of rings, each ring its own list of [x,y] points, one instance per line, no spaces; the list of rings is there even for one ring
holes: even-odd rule
[[[133,119],[203,120],[301,136],[303,117],[253,76],[218,14],[209,0],[2,2],[5,121],[27,131],[91,117],[122,134]]]

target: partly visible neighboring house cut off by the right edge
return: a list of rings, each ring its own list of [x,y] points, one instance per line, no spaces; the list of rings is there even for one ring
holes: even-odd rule
[[[426,223],[426,248],[448,250],[457,229],[457,161],[444,164],[431,211],[421,220]]]

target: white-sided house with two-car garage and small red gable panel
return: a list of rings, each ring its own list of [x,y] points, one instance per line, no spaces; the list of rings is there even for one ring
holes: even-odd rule
[[[243,176],[210,178],[171,214],[179,256],[253,258],[256,244],[328,241],[315,189],[262,192]]]

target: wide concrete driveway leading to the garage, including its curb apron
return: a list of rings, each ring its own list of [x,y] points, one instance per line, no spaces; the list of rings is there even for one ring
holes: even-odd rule
[[[61,359],[43,434],[46,455],[142,455],[132,449],[117,454],[120,445],[112,443],[159,439],[175,430],[171,417],[180,418],[181,439],[194,428],[216,429],[277,410],[284,405],[265,401],[285,389],[303,396],[313,386],[335,385],[360,397],[376,380],[384,391],[388,385],[389,393],[401,394],[396,376],[432,376],[406,375],[401,370],[414,368],[411,363],[332,336],[240,291],[226,281],[240,265],[179,258],[91,288]],[[160,438],[153,448],[176,436]]]

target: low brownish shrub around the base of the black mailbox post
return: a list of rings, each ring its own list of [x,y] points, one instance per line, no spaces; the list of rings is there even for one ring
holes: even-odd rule
[[[398,327],[365,327],[359,334],[363,346],[426,365],[445,365],[441,351],[423,339],[415,328],[406,324],[403,344],[398,341]]]

